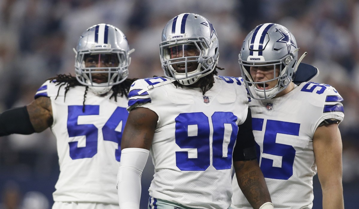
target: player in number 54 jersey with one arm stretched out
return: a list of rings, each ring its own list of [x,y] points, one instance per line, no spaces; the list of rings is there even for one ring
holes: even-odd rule
[[[129,44],[116,27],[98,24],[81,35],[76,77],[50,78],[35,100],[0,115],[0,135],[50,127],[60,176],[52,209],[118,209],[116,169],[128,112]]]

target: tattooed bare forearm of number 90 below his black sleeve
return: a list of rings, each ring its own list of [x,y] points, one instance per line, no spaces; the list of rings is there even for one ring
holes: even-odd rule
[[[234,161],[234,170],[236,171],[236,178],[239,188],[241,188],[244,196],[246,196],[248,202],[254,209],[258,208],[273,208],[271,204],[271,198],[267,188],[267,184],[264,180],[263,173],[258,165],[258,161]],[[270,203],[266,207],[265,203]]]

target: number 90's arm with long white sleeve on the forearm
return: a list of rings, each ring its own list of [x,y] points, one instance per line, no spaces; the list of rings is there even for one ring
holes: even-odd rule
[[[121,141],[121,165],[117,175],[117,194],[121,209],[139,209],[141,175],[146,165],[158,116],[148,108],[130,111]]]

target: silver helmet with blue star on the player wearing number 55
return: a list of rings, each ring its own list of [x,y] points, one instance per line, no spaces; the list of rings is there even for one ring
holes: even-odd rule
[[[288,29],[274,23],[258,25],[244,39],[239,54],[242,77],[250,96],[254,99],[269,99],[283,91],[292,81],[297,61],[297,42]],[[273,79],[264,82],[253,81],[250,67],[254,65],[273,66]],[[274,80],[278,81],[276,86],[266,89],[266,83]],[[257,88],[258,84],[264,88]]]

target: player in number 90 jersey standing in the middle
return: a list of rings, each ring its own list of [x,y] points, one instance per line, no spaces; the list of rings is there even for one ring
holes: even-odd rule
[[[140,79],[130,88],[120,208],[139,209],[149,153],[151,209],[228,209],[232,166],[253,208],[273,208],[256,160],[246,88],[238,78],[217,76],[218,56],[217,33],[203,16],[183,13],[165,25],[164,77]]]

